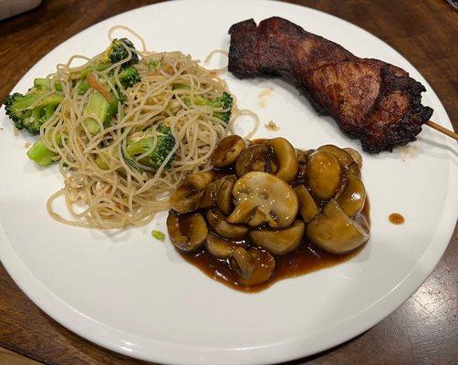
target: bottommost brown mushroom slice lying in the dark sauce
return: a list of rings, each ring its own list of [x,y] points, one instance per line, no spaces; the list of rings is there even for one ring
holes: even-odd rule
[[[272,276],[276,261],[268,252],[255,248],[245,250],[238,247],[231,257],[231,266],[239,276],[243,286],[254,286],[264,283]]]

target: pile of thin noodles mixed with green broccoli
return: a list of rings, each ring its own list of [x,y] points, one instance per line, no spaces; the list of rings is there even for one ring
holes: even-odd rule
[[[72,67],[76,59],[84,65]],[[28,157],[40,166],[58,162],[65,178],[49,214],[121,228],[167,209],[167,193],[207,166],[243,113],[217,74],[181,52],[139,51],[115,38],[98,56],[73,56],[26,94],[8,96],[16,129],[40,135]],[[73,219],[55,212],[61,196]]]

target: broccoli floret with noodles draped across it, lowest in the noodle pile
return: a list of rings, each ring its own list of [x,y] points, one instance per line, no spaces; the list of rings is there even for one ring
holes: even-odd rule
[[[172,130],[169,127],[161,125],[156,131],[158,133],[158,142],[156,147],[148,156],[143,157],[140,160],[141,164],[150,166],[155,170],[161,167],[162,162],[165,161],[175,146],[175,138],[173,137]],[[140,156],[141,154],[151,150],[153,142],[154,140],[152,137],[143,138],[140,141],[130,141],[128,142],[126,152],[130,158]],[[172,167],[174,158],[175,155],[173,154],[165,166],[167,169]]]

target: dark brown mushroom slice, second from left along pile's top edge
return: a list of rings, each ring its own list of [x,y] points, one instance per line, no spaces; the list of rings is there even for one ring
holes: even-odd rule
[[[235,173],[243,176],[246,172],[271,172],[272,149],[265,144],[253,144],[240,153],[235,162]]]

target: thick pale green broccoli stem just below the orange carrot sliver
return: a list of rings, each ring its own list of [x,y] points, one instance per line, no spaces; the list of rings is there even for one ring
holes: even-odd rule
[[[97,91],[92,91],[88,96],[88,104],[83,111],[83,123],[91,134],[97,134],[100,131],[99,122],[101,120],[104,127],[109,126],[109,122],[118,110],[118,100],[113,99],[109,102]]]

